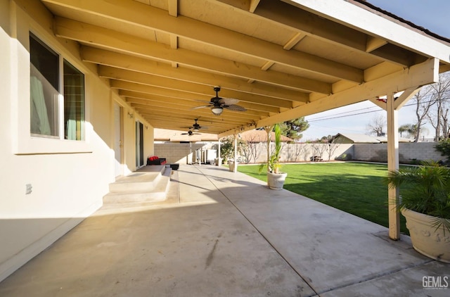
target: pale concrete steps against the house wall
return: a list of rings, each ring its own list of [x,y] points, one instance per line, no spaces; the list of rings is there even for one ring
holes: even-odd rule
[[[157,168],[159,171],[157,171]],[[164,201],[169,190],[172,168],[151,165],[120,177],[110,184],[110,193],[103,196],[103,204],[146,203]]]

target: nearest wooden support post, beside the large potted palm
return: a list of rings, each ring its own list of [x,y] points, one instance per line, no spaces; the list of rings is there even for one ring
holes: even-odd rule
[[[387,96],[387,169],[399,169],[399,124],[398,111],[395,109],[394,94]],[[397,211],[399,190],[397,188],[388,190],[389,207],[389,237],[393,240],[400,239],[400,214]]]

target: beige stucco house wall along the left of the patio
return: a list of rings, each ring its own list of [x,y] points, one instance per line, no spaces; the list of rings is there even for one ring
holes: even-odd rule
[[[0,281],[101,207],[115,181],[113,102],[130,110],[80,61],[77,44],[54,37],[40,2],[26,2],[21,8],[0,0]],[[85,141],[30,137],[30,30],[84,72]],[[123,117],[124,174],[136,169],[136,120],[148,127],[144,156],[153,153],[153,127],[134,114]]]

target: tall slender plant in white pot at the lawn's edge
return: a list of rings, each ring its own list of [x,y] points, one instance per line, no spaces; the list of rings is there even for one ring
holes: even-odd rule
[[[267,166],[267,184],[270,189],[281,190],[285,182],[288,173],[280,172],[281,163],[281,127],[280,125],[274,125],[275,132],[275,148],[267,160],[267,164],[261,164],[259,172]],[[267,144],[269,146],[269,143]]]

